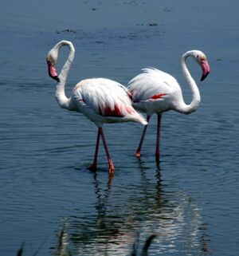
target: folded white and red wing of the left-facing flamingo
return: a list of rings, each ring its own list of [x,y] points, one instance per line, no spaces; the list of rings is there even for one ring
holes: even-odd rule
[[[84,112],[90,119],[92,116],[96,116],[96,119],[103,116],[105,119],[116,117],[123,121],[130,119],[142,124],[146,123],[131,106],[127,89],[116,81],[106,78],[81,81],[79,85],[76,85],[74,98],[80,112]]]

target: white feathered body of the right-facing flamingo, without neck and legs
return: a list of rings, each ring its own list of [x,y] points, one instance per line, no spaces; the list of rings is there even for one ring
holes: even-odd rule
[[[182,99],[182,90],[178,81],[159,69],[143,69],[129,82],[133,106],[147,115],[166,112],[173,109],[178,99]]]

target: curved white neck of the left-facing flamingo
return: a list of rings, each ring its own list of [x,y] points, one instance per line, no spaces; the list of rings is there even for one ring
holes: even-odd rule
[[[63,65],[63,68],[61,69],[61,73],[59,74],[60,82],[57,83],[56,93],[55,97],[57,99],[58,104],[61,106],[61,108],[67,108],[69,110],[73,110],[74,106],[72,105],[71,98],[68,98],[65,95],[65,83],[66,79],[69,74],[69,69],[72,65],[72,62],[74,60],[75,56],[75,49],[74,46],[70,41],[60,41],[57,45],[55,45],[55,49],[57,51],[57,54],[62,46],[67,45],[69,47],[69,57],[65,61],[65,65]]]

